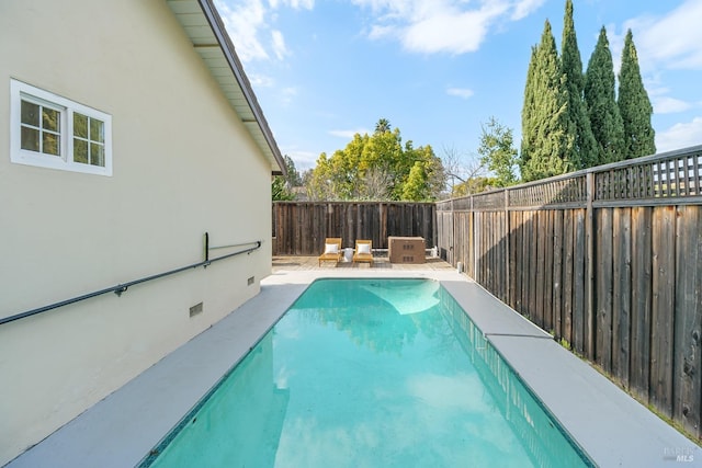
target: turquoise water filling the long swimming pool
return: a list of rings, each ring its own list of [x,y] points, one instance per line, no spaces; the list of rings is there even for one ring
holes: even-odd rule
[[[590,466],[439,283],[320,279],[143,463]]]

